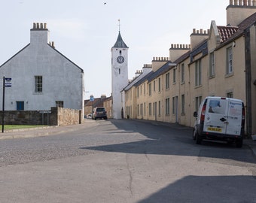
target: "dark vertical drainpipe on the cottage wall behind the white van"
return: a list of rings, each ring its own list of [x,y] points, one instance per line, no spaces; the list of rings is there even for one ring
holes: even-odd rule
[[[245,94],[246,94],[246,131],[251,138],[251,26],[245,29]]]

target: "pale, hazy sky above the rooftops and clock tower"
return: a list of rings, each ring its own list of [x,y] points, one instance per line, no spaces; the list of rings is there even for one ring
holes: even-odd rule
[[[56,50],[84,69],[85,99],[111,95],[111,47],[129,47],[129,79],[169,57],[171,44],[190,44],[193,29],[226,26],[229,0],[0,0],[0,65],[30,42],[33,23],[47,23]],[[8,77],[8,76],[6,76]]]

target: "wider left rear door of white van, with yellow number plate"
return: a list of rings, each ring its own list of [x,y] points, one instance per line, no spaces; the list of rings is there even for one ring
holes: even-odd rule
[[[228,99],[220,97],[207,98],[203,131],[226,134]]]

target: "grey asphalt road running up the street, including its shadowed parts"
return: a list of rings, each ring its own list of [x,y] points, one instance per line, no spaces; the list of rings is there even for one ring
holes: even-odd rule
[[[72,132],[0,141],[0,202],[256,202],[256,160],[191,129],[92,120]]]

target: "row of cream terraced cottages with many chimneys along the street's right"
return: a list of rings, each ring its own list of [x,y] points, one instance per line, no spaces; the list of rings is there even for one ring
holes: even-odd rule
[[[240,98],[247,134],[256,134],[256,6],[239,2],[227,6],[227,26],[194,29],[189,45],[144,65],[123,89],[124,117],[193,126],[204,97]]]

